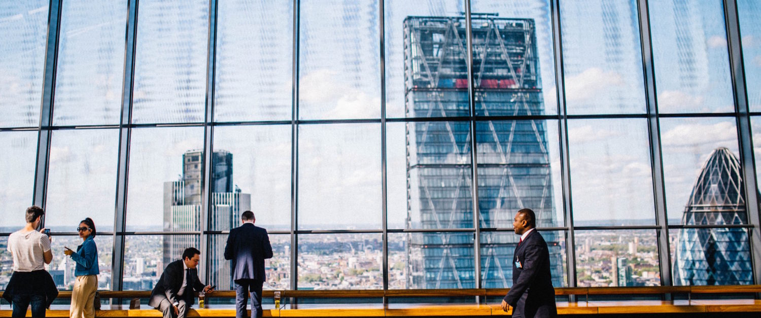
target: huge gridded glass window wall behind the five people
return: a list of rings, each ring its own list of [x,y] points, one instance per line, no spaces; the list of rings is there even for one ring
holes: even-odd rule
[[[251,210],[266,289],[509,288],[532,208],[556,287],[753,284],[761,6],[725,2],[0,4],[0,245],[34,202],[61,289],[90,217],[99,288],[196,246],[230,290]]]

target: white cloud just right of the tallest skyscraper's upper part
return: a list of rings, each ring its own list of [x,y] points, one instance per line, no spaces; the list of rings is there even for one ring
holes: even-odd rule
[[[605,72],[602,68],[587,68],[581,74],[565,78],[565,99],[588,100],[611,85],[622,84],[624,82],[621,75],[616,72]]]

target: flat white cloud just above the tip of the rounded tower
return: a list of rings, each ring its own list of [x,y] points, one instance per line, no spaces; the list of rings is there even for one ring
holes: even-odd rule
[[[734,141],[737,143],[737,129],[732,122],[684,124],[673,127],[667,132],[661,132],[661,140],[664,147],[693,147],[707,142],[715,144]]]

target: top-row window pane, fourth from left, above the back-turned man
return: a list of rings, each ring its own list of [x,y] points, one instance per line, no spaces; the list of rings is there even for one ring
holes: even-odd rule
[[[216,121],[291,119],[293,2],[217,8]]]

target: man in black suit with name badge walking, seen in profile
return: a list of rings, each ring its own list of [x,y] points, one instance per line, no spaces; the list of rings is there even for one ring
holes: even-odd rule
[[[502,310],[513,307],[513,316],[521,318],[554,317],[555,288],[549,271],[549,249],[542,234],[535,229],[537,217],[530,208],[515,214],[513,229],[521,235],[513,256],[513,287],[502,299]]]

